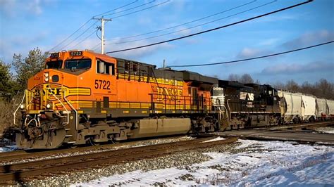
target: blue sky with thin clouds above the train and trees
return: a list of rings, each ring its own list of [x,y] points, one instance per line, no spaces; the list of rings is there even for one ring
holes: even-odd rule
[[[132,2],[134,3],[130,4]],[[268,4],[270,2],[272,3]],[[11,63],[13,53],[21,53],[23,56],[26,56],[27,52],[35,47],[39,47],[42,51],[49,51],[49,49],[56,46],[59,42],[63,41],[63,39],[66,39],[87,20],[92,18],[93,15],[113,10],[125,4],[130,5],[111,12],[114,14],[107,15],[105,18],[114,18],[118,17],[118,15],[148,8],[149,6],[161,5],[138,13],[114,18],[111,22],[107,22],[105,32],[107,45],[105,51],[126,49],[143,44],[151,44],[156,41],[181,37],[186,34],[226,25],[300,2],[302,1],[0,0],[0,58],[6,63]],[[147,5],[140,6],[142,4]],[[235,8],[242,4],[247,5]],[[264,4],[267,5],[261,6]],[[135,6],[140,7],[125,11]],[[261,7],[255,8],[257,6]],[[122,39],[123,37],[180,25],[230,8],[235,9],[211,16],[204,20],[174,27],[170,30],[164,30],[163,32]],[[251,8],[255,9],[247,11]],[[123,12],[117,13],[119,11]],[[247,12],[240,13],[242,11]],[[93,49],[97,46],[95,51],[99,52],[99,39],[94,33],[94,30],[96,30],[96,27],[99,26],[100,23],[97,22],[93,25],[94,22],[94,20],[90,20],[87,25],[82,27],[79,32],[75,33],[73,37],[70,37],[70,39],[61,44],[56,50]],[[205,22],[211,23],[196,27]],[[93,26],[88,29],[91,25]],[[186,30],[189,27],[193,28]],[[87,32],[82,34],[81,37],[78,37],[85,30],[87,30]],[[183,31],[177,32],[179,30]],[[167,34],[169,32],[175,33]],[[82,41],[89,34],[92,34],[91,37]],[[166,35],[145,39],[159,34]],[[74,40],[76,37],[78,37],[78,39]],[[129,40],[139,41],[124,44],[108,44]],[[269,53],[287,51],[330,40],[334,40],[334,1],[316,0],[310,4],[268,15],[258,20],[226,27],[222,30],[216,30],[195,37],[171,41],[166,44],[143,49],[112,53],[110,55],[130,58],[161,67],[163,59],[166,60],[167,65],[217,63],[226,60],[251,58]],[[82,43],[78,44],[80,41],[82,41]],[[221,79],[227,79],[230,74],[242,75],[249,73],[254,79],[259,79],[263,84],[286,82],[290,79],[294,79],[298,83],[306,81],[313,83],[321,78],[334,82],[334,44],[319,46],[318,48],[285,54],[283,56],[242,63],[207,67],[178,67],[175,69],[191,70],[209,76],[217,75]]]

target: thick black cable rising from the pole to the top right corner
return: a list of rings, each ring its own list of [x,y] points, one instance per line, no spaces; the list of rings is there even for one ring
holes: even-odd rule
[[[265,14],[262,14],[262,15],[257,15],[257,16],[255,16],[255,17],[248,18],[248,19],[246,19],[246,20],[241,20],[241,21],[238,21],[238,22],[233,22],[233,23],[230,23],[230,24],[228,24],[228,25],[223,25],[223,26],[221,26],[221,27],[216,27],[216,28],[211,29],[211,30],[205,30],[205,31],[202,31],[202,32],[194,33],[194,34],[189,34],[189,35],[186,35],[186,36],[183,36],[183,37],[178,37],[178,38],[174,38],[174,39],[168,39],[168,40],[166,40],[166,41],[160,41],[160,42],[156,42],[156,43],[154,43],[154,44],[147,44],[147,45],[144,45],[144,46],[137,46],[137,47],[132,47],[132,48],[128,48],[128,49],[122,49],[122,50],[117,50],[117,51],[109,51],[109,52],[106,52],[106,54],[107,54],[107,53],[117,53],[117,52],[121,52],[121,51],[129,51],[129,50],[133,50],[133,49],[140,49],[140,48],[144,48],[144,47],[148,47],[148,46],[154,46],[154,45],[158,45],[158,44],[167,43],[167,42],[169,42],[169,41],[175,41],[175,40],[178,40],[178,39],[184,39],[184,38],[187,38],[187,37],[192,37],[192,36],[195,36],[195,35],[198,35],[198,34],[204,34],[204,33],[206,33],[206,32],[211,32],[211,31],[214,31],[214,30],[219,30],[219,29],[222,29],[222,28],[224,28],[224,27],[230,27],[230,26],[232,26],[232,25],[237,25],[237,24],[239,24],[239,23],[247,22],[247,21],[249,21],[249,20],[255,20],[255,19],[257,19],[257,18],[261,18],[261,17],[264,17],[264,16],[266,16],[266,15],[271,15],[271,14],[273,14],[273,13],[278,13],[278,12],[280,12],[280,11],[285,11],[285,10],[290,9],[290,8],[295,8],[295,7],[297,7],[297,6],[301,6],[301,5],[303,5],[303,4],[308,4],[308,3],[310,3],[311,1],[313,1],[313,0],[304,1],[303,3],[300,3],[300,4],[295,4],[295,5],[292,5],[292,6],[287,6],[287,7],[285,7],[285,8],[281,8],[281,9],[278,9],[278,10],[276,10],[276,11],[271,11],[271,12],[269,12],[269,13],[265,13]]]

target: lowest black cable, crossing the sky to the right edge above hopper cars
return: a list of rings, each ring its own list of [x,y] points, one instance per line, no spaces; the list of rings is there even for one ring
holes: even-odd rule
[[[194,67],[194,66],[206,66],[206,65],[238,63],[238,62],[247,61],[247,60],[255,60],[255,59],[259,59],[259,58],[268,58],[268,57],[271,57],[271,56],[279,56],[279,55],[283,55],[283,54],[286,54],[286,53],[292,53],[292,52],[295,52],[295,51],[302,51],[302,50],[311,49],[311,48],[314,48],[314,47],[317,47],[317,46],[323,46],[323,45],[326,45],[326,44],[331,44],[333,42],[334,41],[327,41],[325,43],[316,44],[314,46],[307,46],[307,47],[303,47],[303,48],[299,48],[299,49],[293,49],[293,50],[290,50],[290,51],[284,51],[284,52],[280,52],[280,53],[273,53],[273,54],[266,55],[266,56],[257,56],[257,57],[254,57],[254,58],[245,58],[245,59],[241,59],[241,60],[231,60],[231,61],[225,61],[225,62],[221,62],[221,63],[207,63],[207,64],[194,64],[194,65],[170,65],[168,67]]]

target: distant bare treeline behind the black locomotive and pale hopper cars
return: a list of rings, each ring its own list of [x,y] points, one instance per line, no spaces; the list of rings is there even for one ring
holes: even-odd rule
[[[244,74],[242,76],[231,74],[228,76],[228,80],[237,81],[241,83],[256,83],[260,84],[259,80],[254,81],[251,75]],[[284,89],[288,91],[295,91],[301,93],[311,94],[318,98],[334,99],[334,83],[328,82],[327,79],[320,79],[318,82],[311,84],[304,82],[303,84],[297,84],[294,80],[287,81],[286,83],[276,82],[271,84],[276,89]]]

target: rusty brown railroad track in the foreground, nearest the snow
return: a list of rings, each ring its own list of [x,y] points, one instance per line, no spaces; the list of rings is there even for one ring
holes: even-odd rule
[[[109,150],[101,153],[72,155],[68,157],[56,157],[49,160],[3,165],[0,167],[0,184],[8,184],[8,181],[38,179],[44,175],[78,171],[80,169],[101,167],[102,165],[119,165],[123,162],[133,162],[135,160],[159,157],[185,150],[207,148],[209,146],[217,146],[223,143],[233,143],[237,141],[237,138],[209,141],[213,138],[216,138],[216,136],[189,141],[163,143],[154,146]]]

